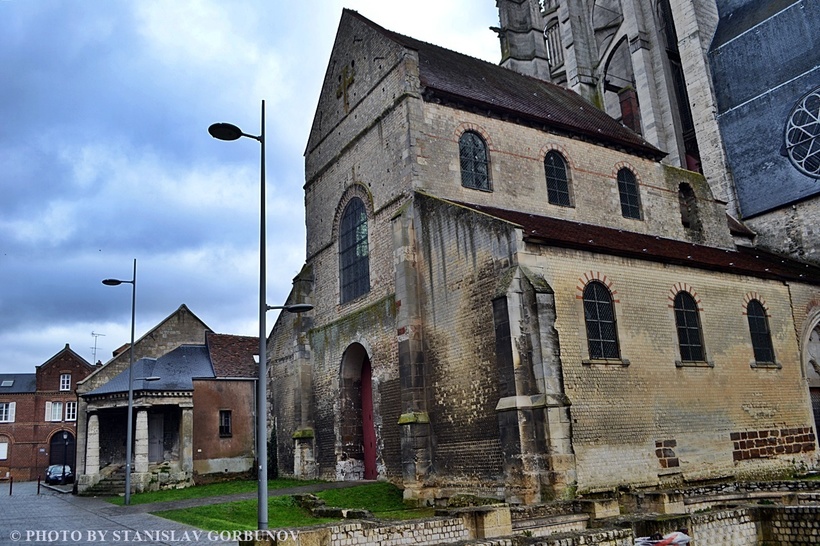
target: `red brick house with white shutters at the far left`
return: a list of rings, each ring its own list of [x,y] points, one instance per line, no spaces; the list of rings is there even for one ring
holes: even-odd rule
[[[0,374],[0,478],[34,480],[74,467],[78,381],[94,366],[67,344],[35,373]]]

